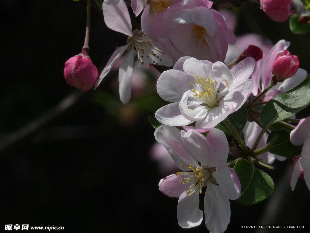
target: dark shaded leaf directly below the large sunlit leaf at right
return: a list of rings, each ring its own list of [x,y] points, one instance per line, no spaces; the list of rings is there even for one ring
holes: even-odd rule
[[[294,157],[301,154],[301,148],[303,146],[295,146],[290,142],[290,130],[277,129],[270,133],[267,139],[267,143],[277,135],[277,139],[269,150],[270,153],[277,154],[284,157]]]

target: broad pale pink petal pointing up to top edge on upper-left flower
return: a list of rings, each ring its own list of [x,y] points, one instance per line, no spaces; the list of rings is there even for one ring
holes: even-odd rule
[[[108,28],[132,36],[131,20],[124,0],[104,0],[102,10]]]

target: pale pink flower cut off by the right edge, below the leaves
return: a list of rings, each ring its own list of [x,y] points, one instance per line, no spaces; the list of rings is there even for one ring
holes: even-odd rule
[[[290,134],[290,141],[295,146],[301,146],[301,155],[298,156],[293,164],[290,174],[290,186],[294,191],[298,177],[303,172],[303,177],[310,190],[310,117],[303,118]]]

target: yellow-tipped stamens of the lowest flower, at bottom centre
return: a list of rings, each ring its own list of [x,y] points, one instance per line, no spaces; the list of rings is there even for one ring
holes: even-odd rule
[[[184,167],[184,165],[181,165],[182,167]],[[211,167],[211,168],[201,168],[201,167],[196,167],[193,164],[188,165],[188,168],[191,169],[193,171],[193,177],[192,178],[181,178],[180,184],[186,184],[187,182],[191,182],[193,183],[190,187],[188,192],[188,196],[192,195],[193,193],[196,194],[200,194],[202,191],[202,188],[204,186],[206,186],[206,181],[208,179],[213,180],[213,182],[215,182],[215,179],[212,177],[212,173],[216,170],[216,167]],[[181,172],[177,172],[175,175],[179,176],[179,175],[185,175],[186,172],[183,171],[183,173]],[[187,179],[187,180],[186,180]],[[197,192],[197,191],[198,192]]]

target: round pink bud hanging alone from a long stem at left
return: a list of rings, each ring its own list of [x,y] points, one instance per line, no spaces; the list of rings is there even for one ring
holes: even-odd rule
[[[84,48],[82,53],[71,57],[64,64],[64,78],[67,83],[82,91],[90,90],[95,85],[98,75],[96,66]]]

